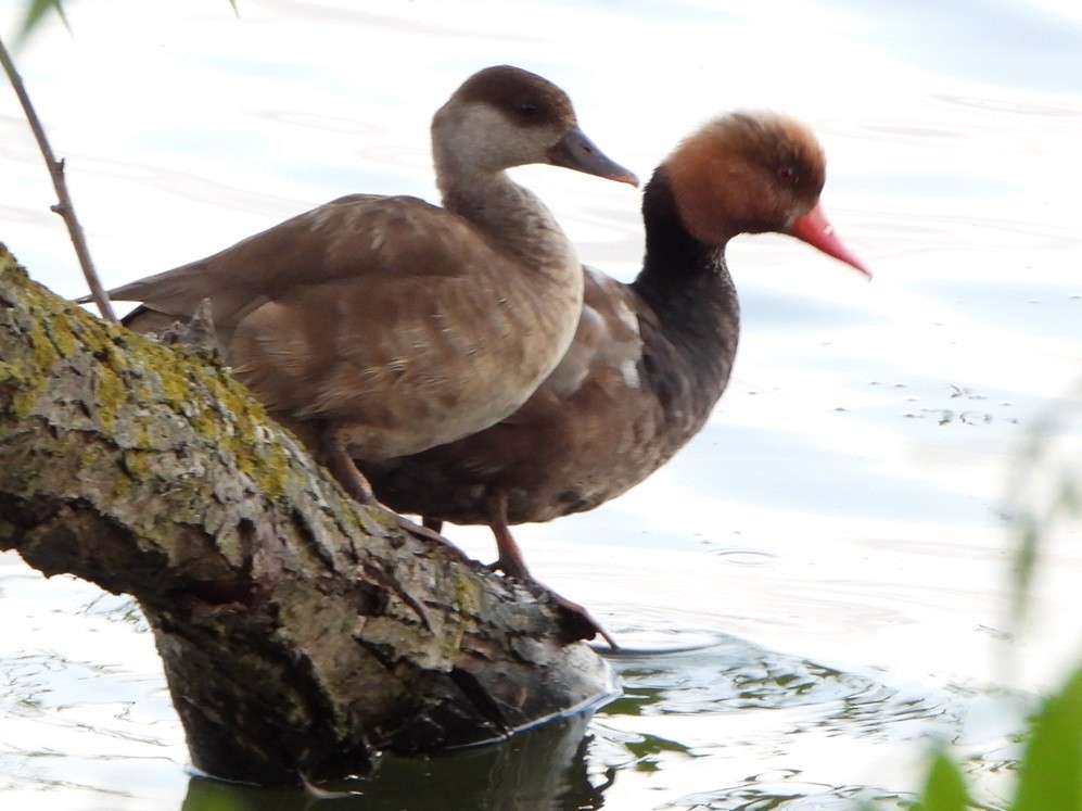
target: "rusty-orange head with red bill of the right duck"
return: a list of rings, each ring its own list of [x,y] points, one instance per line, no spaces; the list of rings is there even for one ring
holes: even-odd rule
[[[805,125],[776,113],[731,113],[701,127],[664,163],[689,233],[724,245],[738,233],[788,233],[871,274],[819,205],[826,157]]]

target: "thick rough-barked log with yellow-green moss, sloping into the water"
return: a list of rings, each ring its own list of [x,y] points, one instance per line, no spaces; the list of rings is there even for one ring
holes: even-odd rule
[[[93,318],[2,245],[0,549],[139,600],[220,777],[361,773],[612,689],[545,594],[349,500],[213,357]]]

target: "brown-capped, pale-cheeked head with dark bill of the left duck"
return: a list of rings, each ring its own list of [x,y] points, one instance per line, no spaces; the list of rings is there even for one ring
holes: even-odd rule
[[[638,186],[578,128],[563,90],[510,65],[475,73],[436,111],[432,150],[441,175],[539,163]]]

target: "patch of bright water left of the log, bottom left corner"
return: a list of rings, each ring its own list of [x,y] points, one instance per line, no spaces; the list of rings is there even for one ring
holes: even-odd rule
[[[187,755],[133,601],[67,576],[46,583],[4,562],[2,806],[169,808]],[[42,807],[42,788],[62,799]]]

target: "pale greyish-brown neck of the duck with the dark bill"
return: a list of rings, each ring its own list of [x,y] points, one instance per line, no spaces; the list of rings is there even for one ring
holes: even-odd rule
[[[478,226],[501,251],[540,273],[581,273],[551,212],[506,172],[464,172],[437,160],[436,185],[444,207]]]

